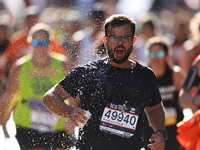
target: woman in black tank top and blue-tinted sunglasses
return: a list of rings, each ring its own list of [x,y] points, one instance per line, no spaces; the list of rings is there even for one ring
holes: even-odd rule
[[[165,150],[181,150],[182,147],[176,140],[176,124],[183,120],[183,112],[178,104],[178,93],[184,78],[184,72],[179,66],[169,61],[169,45],[160,37],[154,36],[147,41],[146,54],[149,58],[149,67],[157,76],[159,91],[161,93],[165,109],[165,126],[168,132],[168,140]],[[153,133],[148,119],[145,119],[144,140],[145,146]],[[145,147],[148,150],[148,147]]]

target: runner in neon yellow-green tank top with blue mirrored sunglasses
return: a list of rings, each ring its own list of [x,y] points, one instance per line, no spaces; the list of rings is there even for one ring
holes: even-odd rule
[[[49,51],[50,39],[48,25],[38,23],[30,29],[27,41],[31,53],[14,63],[8,88],[0,97],[0,124],[14,110],[21,150],[67,150],[73,145],[73,138],[65,131],[66,120],[42,104],[44,93],[67,73],[66,57]]]

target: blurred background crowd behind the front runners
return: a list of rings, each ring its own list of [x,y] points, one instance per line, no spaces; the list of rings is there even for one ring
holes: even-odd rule
[[[27,36],[39,22],[50,25],[51,49],[67,57],[66,71],[107,55],[102,27],[105,18],[115,13],[128,14],[137,22],[138,40],[130,59],[149,65],[146,44],[154,36],[167,42],[170,63],[185,73],[200,54],[198,0],[17,1],[0,1],[0,95],[7,88],[12,65],[30,53]]]

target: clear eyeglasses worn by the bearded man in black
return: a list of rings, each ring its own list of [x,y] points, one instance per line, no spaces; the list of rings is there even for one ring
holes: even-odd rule
[[[131,36],[131,35],[124,35],[124,36],[108,35],[108,38],[113,43],[119,42],[120,39],[122,40],[122,42],[128,43],[133,39],[133,36]]]

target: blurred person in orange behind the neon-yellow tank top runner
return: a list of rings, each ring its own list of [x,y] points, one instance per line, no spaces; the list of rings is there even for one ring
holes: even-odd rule
[[[10,44],[1,57],[1,69],[9,72],[11,65],[19,58],[30,53],[30,43],[27,42],[27,36],[30,28],[40,22],[40,12],[37,6],[26,7],[21,13],[20,30],[14,32],[10,37]],[[50,50],[67,55],[67,51],[56,38],[50,41]]]

